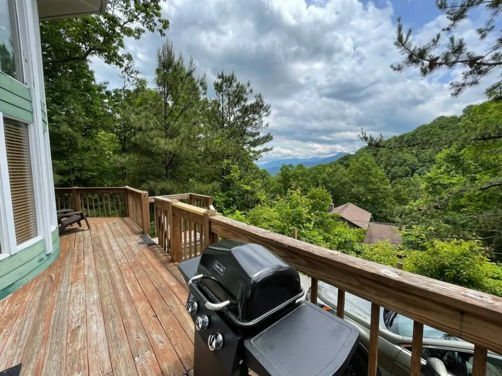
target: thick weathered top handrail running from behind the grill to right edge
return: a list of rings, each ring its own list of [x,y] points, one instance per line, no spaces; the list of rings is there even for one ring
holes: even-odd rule
[[[502,352],[502,298],[389,268],[222,216],[223,238],[261,244],[314,278],[492,351]]]

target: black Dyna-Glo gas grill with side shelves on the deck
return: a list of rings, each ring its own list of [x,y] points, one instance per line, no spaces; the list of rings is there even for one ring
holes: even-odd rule
[[[196,376],[340,374],[358,330],[309,302],[298,272],[258,244],[223,240],[180,263]]]

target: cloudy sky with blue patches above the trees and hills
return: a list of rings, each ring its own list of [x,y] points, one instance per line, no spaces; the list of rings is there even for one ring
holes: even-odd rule
[[[354,152],[361,128],[385,137],[410,131],[440,115],[461,113],[484,100],[490,82],[451,98],[448,82],[460,70],[426,79],[418,71],[397,74],[402,57],[393,45],[396,18],[425,43],[447,20],[433,0],[167,0],[168,38],[212,82],[234,71],[271,103],[268,119],[274,149],[262,161]],[[474,51],[486,50],[475,29],[482,17],[456,29]],[[157,49],[154,34],[128,40],[137,69],[150,82]],[[98,81],[119,85],[119,72],[93,59]]]

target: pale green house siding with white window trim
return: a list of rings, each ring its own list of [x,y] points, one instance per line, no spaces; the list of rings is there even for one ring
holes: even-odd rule
[[[6,180],[3,120],[0,121],[0,299],[31,281],[59,255],[54,181],[50,154],[42,51],[36,0],[16,0],[23,80],[0,72],[0,120],[29,124],[30,158],[35,191],[37,236],[17,244]],[[4,150],[2,150],[2,148]],[[2,172],[4,171],[4,172]],[[8,176],[8,175],[7,175]],[[9,212],[10,208],[10,212]]]

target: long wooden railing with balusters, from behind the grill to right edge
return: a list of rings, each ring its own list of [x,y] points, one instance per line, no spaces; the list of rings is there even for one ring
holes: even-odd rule
[[[313,302],[319,280],[337,287],[338,316],[343,317],[345,292],[370,301],[370,376],[377,370],[380,307],[414,320],[412,375],[420,375],[424,324],[474,343],[473,376],[484,376],[488,349],[502,353],[502,298],[308,244],[177,200],[154,201],[162,232],[159,244],[173,261],[198,255],[217,239],[258,243],[311,276]]]

